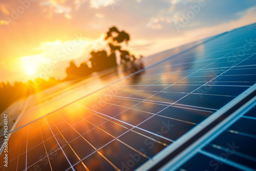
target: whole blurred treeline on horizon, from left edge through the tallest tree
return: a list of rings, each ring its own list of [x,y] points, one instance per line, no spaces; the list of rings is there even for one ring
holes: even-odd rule
[[[70,66],[66,69],[67,77],[63,80],[56,80],[54,78],[49,80],[40,79],[38,84],[35,83],[36,81],[30,80],[27,83],[15,82],[13,86],[9,82],[0,83],[1,113],[18,98],[56,86],[62,81],[78,79],[89,76],[93,72],[100,72],[117,66],[117,54],[119,54],[118,57],[121,64],[136,60],[136,57],[129,51],[123,50],[122,45],[124,43],[128,44],[130,40],[130,35],[125,31],[119,31],[116,27],[112,27],[106,32],[105,40],[109,41],[109,54],[105,50],[92,51],[89,60],[81,63],[79,67],[71,61]],[[88,63],[91,63],[91,67],[89,67]],[[134,62],[132,63],[134,65]]]

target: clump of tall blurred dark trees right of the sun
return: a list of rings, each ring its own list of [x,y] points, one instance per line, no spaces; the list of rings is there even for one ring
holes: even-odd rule
[[[120,54],[121,63],[126,63],[135,60],[135,56],[131,55],[129,51],[122,49],[122,43],[130,40],[130,35],[125,31],[119,31],[116,27],[111,27],[106,32],[105,40],[110,40],[109,48],[110,55],[105,50],[92,51],[90,53],[91,68],[88,67],[87,63],[82,63],[80,67],[77,67],[73,61],[70,62],[70,66],[66,69],[67,77],[65,80],[77,79],[82,76],[87,76],[92,72],[99,72],[105,69],[109,69],[117,66],[117,52]]]

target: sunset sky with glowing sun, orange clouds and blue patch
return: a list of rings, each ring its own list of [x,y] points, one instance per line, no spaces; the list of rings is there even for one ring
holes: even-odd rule
[[[255,0],[0,0],[0,81],[63,79],[113,26],[148,56],[255,22]]]

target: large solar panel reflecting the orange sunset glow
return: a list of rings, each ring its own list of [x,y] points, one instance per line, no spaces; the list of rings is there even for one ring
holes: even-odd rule
[[[0,168],[154,170],[166,163],[164,167],[169,167],[178,154],[255,95],[255,27],[197,41],[181,47],[182,51],[152,55],[144,69],[96,92],[80,89],[77,99],[56,98],[62,106],[44,115],[37,115],[35,104],[12,131],[8,167],[2,161]],[[250,138],[248,143],[253,144]],[[218,155],[211,154],[215,148],[205,150],[208,158]],[[4,155],[3,151],[1,160]],[[201,160],[202,155],[196,160],[207,165],[209,159]],[[189,161],[180,168],[193,170]],[[203,164],[202,168],[207,169]],[[241,167],[222,165],[223,170],[229,168]]]

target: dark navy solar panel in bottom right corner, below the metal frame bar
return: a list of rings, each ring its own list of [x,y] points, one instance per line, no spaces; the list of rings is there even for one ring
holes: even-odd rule
[[[255,170],[256,98],[163,170]]]

